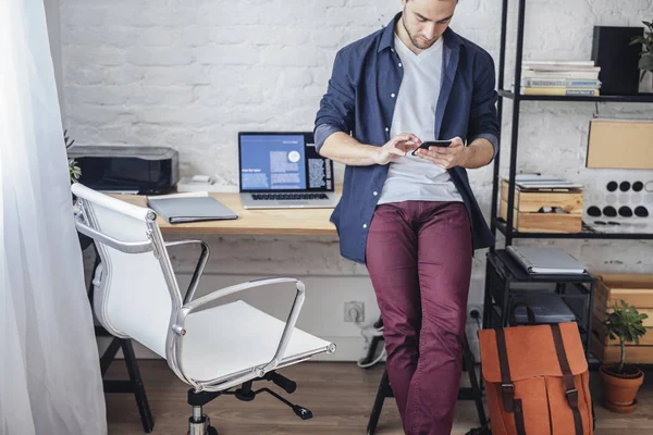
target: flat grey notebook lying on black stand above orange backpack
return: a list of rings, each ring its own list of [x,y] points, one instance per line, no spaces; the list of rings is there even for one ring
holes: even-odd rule
[[[560,248],[508,246],[506,252],[531,274],[587,274],[584,264]]]

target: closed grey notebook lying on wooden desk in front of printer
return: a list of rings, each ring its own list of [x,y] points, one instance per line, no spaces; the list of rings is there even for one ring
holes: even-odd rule
[[[201,194],[148,197],[147,204],[170,224],[238,217],[215,198]]]

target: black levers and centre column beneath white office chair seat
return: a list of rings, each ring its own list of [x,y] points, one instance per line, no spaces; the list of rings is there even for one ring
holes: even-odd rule
[[[270,381],[275,385],[283,388],[286,393],[292,394],[297,388],[297,384],[287,377],[275,373],[274,371],[266,373],[263,377],[257,377],[256,380],[244,383],[241,388],[234,391],[196,391],[195,389],[188,389],[188,405],[193,407],[193,415],[188,419],[188,435],[218,435],[218,431],[211,426],[211,422],[208,415],[202,412],[202,407],[222,395],[234,396],[238,400],[251,401],[257,395],[261,393],[268,393],[275,399],[280,400],[284,405],[287,405],[293,409],[293,412],[301,420],[312,419],[312,412],[299,405],[292,403],[284,399],[270,388],[259,388],[252,390],[251,386],[258,381]]]

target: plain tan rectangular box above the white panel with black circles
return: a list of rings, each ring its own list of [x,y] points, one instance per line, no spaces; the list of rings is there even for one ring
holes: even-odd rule
[[[592,120],[587,167],[653,169],[653,122]]]

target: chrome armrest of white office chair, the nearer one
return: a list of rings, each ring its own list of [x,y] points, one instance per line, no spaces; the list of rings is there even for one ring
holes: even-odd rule
[[[297,287],[297,293],[295,294],[295,299],[293,301],[293,306],[291,307],[291,311],[288,313],[288,318],[286,320],[285,327],[283,330],[283,334],[281,335],[281,339],[279,341],[279,346],[276,347],[276,351],[274,352],[274,357],[270,362],[268,362],[262,369],[258,370],[257,375],[262,376],[267,372],[274,370],[280,361],[282,360],[288,343],[291,340],[291,334],[297,324],[297,319],[299,318],[299,312],[301,311],[301,306],[304,304],[304,299],[306,297],[306,287],[304,283],[296,278],[288,277],[279,277],[279,278],[262,278],[250,281],[247,283],[236,284],[233,286],[229,286],[222,288],[220,290],[215,290],[209,295],[202,296],[200,298],[195,299],[192,302],[185,303],[176,315],[176,323],[172,326],[173,332],[176,333],[177,337],[182,337],[186,334],[185,323],[186,316],[190,314],[193,311],[202,307],[209,302],[212,302],[217,299],[220,299],[224,296],[232,295],[234,293],[243,291],[254,287],[261,287],[271,284],[280,284],[280,283],[295,283]]]

